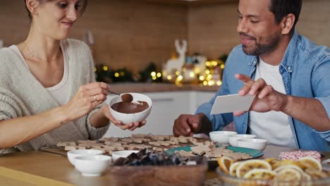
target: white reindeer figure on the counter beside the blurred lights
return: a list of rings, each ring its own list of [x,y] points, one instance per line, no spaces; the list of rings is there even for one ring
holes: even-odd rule
[[[179,40],[175,41],[176,52],[179,56],[176,59],[169,59],[165,65],[166,73],[173,74],[176,70],[180,71],[183,65],[185,64],[185,52],[187,51],[187,41],[184,39],[182,45]]]

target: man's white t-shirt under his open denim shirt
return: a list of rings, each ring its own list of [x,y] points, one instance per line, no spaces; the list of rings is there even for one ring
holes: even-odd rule
[[[281,73],[279,73],[279,66],[271,66],[259,58],[255,80],[259,78],[264,79],[267,85],[273,86],[276,91],[286,94],[283,79]],[[277,111],[257,113],[250,111],[249,123],[252,135],[268,140],[271,144],[296,147],[288,115],[285,113]]]

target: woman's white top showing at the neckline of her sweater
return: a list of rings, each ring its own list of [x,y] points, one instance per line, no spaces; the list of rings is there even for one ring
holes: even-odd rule
[[[10,46],[11,49],[13,49],[14,51],[16,51],[18,54],[20,54],[20,50],[18,49],[18,47],[16,45]],[[52,97],[54,97],[54,99],[56,99],[57,102],[59,102],[60,105],[64,105],[66,103],[68,103],[68,101],[70,101],[70,98],[68,97],[68,89],[69,89],[69,85],[68,85],[68,54],[66,54],[66,44],[65,42],[61,42],[61,51],[63,51],[63,61],[64,61],[64,72],[63,72],[63,77],[61,82],[59,82],[57,85],[54,85],[53,87],[47,87],[45,89],[47,89],[47,91],[49,92],[49,94],[51,94]],[[25,62],[25,66],[27,66],[26,61]],[[29,68],[27,66],[27,68]]]

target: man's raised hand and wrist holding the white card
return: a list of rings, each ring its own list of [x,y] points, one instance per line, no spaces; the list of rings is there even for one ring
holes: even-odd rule
[[[267,85],[263,79],[255,81],[243,74],[236,74],[235,77],[244,83],[244,86],[238,92],[240,96],[246,94],[252,96],[256,95],[255,100],[250,107],[250,111],[283,111],[286,108],[286,95],[277,92],[271,85]],[[243,113],[245,112],[235,112],[233,115],[241,116]]]

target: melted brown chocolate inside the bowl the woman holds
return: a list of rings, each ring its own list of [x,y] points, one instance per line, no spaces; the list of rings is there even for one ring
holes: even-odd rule
[[[149,108],[149,105],[146,101],[138,101],[140,104],[136,104],[133,102],[118,102],[111,106],[111,109],[120,113],[139,113],[145,111]]]

